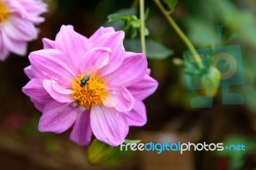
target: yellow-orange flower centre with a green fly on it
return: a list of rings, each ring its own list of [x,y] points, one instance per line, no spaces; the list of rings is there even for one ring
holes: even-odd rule
[[[77,99],[79,106],[85,106],[89,110],[95,104],[102,104],[102,99],[108,96],[105,87],[104,80],[97,78],[95,75],[80,76],[72,83],[72,97]]]

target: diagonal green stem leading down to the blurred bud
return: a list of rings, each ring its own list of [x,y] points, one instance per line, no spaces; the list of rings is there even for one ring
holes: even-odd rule
[[[177,32],[177,34],[180,36],[182,41],[184,41],[186,46],[188,46],[189,50],[191,50],[191,52],[193,54],[193,57],[194,57],[196,63],[198,64],[199,69],[203,69],[204,68],[204,64],[202,63],[202,60],[200,59],[200,56],[196,52],[195,47],[193,46],[191,41],[189,41],[188,37],[184,34],[184,32],[182,32],[182,30],[179,28],[179,26],[175,23],[173,18],[170,16],[169,11],[166,11],[164,9],[164,7],[160,3],[160,1],[159,0],[154,0],[154,2],[156,3],[156,5],[159,8],[159,10],[163,13],[164,17],[169,22],[169,24],[172,25],[172,27],[175,30],[175,32]]]

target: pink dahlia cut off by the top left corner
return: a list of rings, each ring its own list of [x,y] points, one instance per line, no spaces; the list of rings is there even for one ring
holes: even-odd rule
[[[44,22],[40,15],[46,7],[40,0],[0,0],[0,60],[10,52],[26,54],[28,41],[37,38],[35,24]]]

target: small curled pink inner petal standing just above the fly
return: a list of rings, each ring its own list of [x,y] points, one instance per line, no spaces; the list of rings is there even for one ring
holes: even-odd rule
[[[111,49],[108,47],[92,48],[86,52],[81,61],[81,74],[93,74],[101,67],[106,66],[109,63],[109,53],[111,53]]]

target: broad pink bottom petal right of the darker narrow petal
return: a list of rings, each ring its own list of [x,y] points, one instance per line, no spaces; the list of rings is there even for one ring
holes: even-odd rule
[[[111,146],[120,145],[129,131],[124,113],[114,108],[95,105],[91,110],[90,119],[95,137]]]

